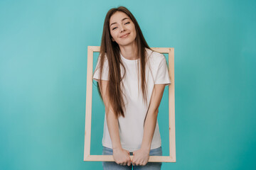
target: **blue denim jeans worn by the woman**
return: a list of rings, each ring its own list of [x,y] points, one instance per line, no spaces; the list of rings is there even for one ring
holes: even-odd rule
[[[108,148],[108,147],[103,147],[102,151],[103,155],[113,155],[113,149]],[[132,152],[130,152],[130,155],[132,155]],[[156,148],[156,149],[151,149],[149,152],[149,156],[162,156],[162,149],[161,147]],[[148,162],[145,166],[133,166],[134,170],[141,170],[141,169],[146,169],[146,170],[159,170],[161,169],[161,162]],[[119,165],[115,162],[102,162],[103,169],[104,170],[115,170],[115,169],[123,169],[123,170],[131,170],[132,169],[132,164],[130,166],[122,166]]]

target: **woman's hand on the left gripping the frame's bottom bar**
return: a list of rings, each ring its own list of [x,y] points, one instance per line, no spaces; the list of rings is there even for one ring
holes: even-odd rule
[[[119,165],[123,165],[123,166],[131,165],[129,151],[125,149],[122,149],[122,148],[113,149],[113,157],[114,157],[114,162],[116,162]]]

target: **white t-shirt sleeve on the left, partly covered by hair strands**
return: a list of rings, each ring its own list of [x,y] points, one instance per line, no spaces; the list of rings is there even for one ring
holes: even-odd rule
[[[107,57],[105,57],[103,60],[105,60],[105,61],[104,61],[103,68],[102,68],[102,77],[100,77],[100,60],[97,61],[95,72],[93,74],[93,79],[95,79],[96,81],[98,81],[99,79],[109,80],[109,76],[108,76],[109,75],[109,66],[108,66],[108,62],[107,62]]]

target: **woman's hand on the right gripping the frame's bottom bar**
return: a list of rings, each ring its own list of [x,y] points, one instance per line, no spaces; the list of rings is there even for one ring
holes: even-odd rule
[[[139,149],[133,152],[132,165],[144,166],[149,162],[149,149]]]

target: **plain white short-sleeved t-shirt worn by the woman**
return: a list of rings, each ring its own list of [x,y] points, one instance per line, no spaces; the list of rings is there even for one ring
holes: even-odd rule
[[[147,89],[147,103],[143,101],[142,91],[140,88],[140,69],[138,69],[139,60],[127,60],[120,52],[122,62],[124,64],[126,74],[123,79],[122,90],[124,91],[124,103],[126,109],[124,110],[124,118],[119,116],[119,137],[122,148],[127,149],[129,152],[134,152],[140,149],[142,145],[144,120],[146,112],[149,108],[151,94],[154,84],[171,84],[169,72],[164,55],[159,52],[153,52],[146,48],[146,55],[148,61],[146,62],[146,89]],[[93,79],[97,81],[100,79],[100,69],[98,68],[99,61],[93,75]],[[140,67],[140,66],[139,66]],[[108,63],[105,58],[105,64],[102,71],[102,80],[108,80]],[[121,67],[121,76],[124,74],[124,69]],[[138,88],[139,85],[139,88]],[[102,145],[104,147],[112,148],[110,133],[107,129],[107,120],[105,115],[104,132],[102,138]],[[151,149],[161,147],[161,137],[159,133],[159,125],[156,121],[156,129],[151,142]]]

